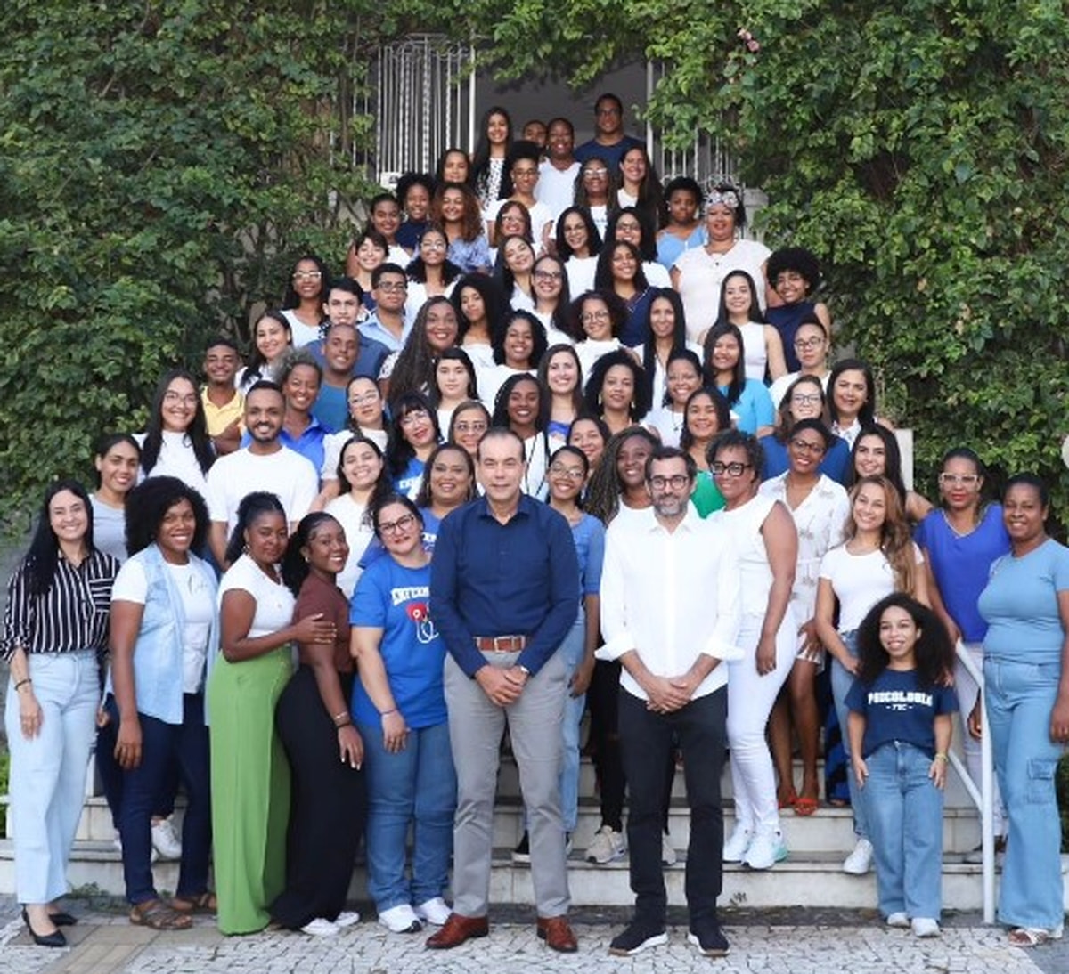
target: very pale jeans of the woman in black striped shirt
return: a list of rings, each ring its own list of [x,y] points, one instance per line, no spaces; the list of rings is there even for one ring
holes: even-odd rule
[[[19,694],[11,681],[4,710],[15,894],[21,904],[46,904],[67,892],[66,866],[81,817],[100,691],[92,649],[31,653],[27,659],[42,710],[37,736],[22,736]]]

